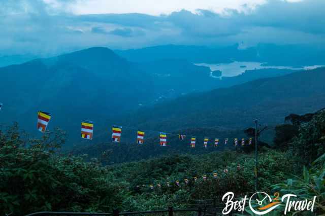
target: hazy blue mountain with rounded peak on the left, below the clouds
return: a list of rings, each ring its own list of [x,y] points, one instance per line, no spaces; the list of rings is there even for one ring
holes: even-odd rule
[[[71,145],[80,142],[82,119],[94,121],[95,131],[104,131],[117,123],[116,116],[141,107],[293,71],[251,70],[220,80],[210,77],[208,67],[187,60],[130,62],[108,48],[94,47],[0,68],[1,124],[18,121],[23,129],[39,134],[36,113],[50,112],[49,129],[67,130]]]

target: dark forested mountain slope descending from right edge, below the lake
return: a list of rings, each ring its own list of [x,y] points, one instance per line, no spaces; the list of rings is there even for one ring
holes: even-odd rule
[[[325,68],[259,79],[210,92],[190,94],[120,117],[121,125],[170,131],[214,127],[242,129],[282,123],[285,116],[315,112],[325,106]]]

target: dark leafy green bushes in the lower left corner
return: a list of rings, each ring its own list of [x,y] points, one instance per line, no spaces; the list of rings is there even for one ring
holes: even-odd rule
[[[40,139],[23,139],[15,124],[0,131],[0,212],[110,211],[122,203],[116,183],[98,162],[55,153],[64,143],[59,129]]]

